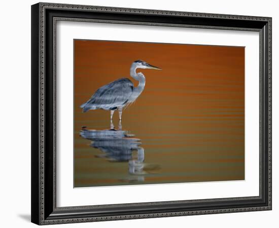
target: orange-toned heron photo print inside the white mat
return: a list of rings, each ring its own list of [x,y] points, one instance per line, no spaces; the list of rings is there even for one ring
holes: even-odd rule
[[[245,179],[245,47],[74,40],[74,187]]]

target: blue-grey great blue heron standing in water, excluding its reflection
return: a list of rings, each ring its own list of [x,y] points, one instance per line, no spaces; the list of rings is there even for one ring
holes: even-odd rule
[[[145,88],[145,76],[142,72],[137,73],[137,68],[161,70],[161,68],[152,66],[142,60],[134,61],[130,68],[130,76],[139,82],[138,86],[135,87],[127,78],[121,78],[108,85],[104,85],[88,101],[80,106],[83,108],[83,112],[89,109],[111,110],[112,121],[114,111],[118,110],[119,120],[121,121],[123,107],[134,102]]]

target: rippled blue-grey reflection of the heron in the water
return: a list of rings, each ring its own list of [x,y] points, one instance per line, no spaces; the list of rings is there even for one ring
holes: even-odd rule
[[[104,154],[98,158],[107,158],[111,162],[128,162],[129,174],[142,175],[152,173],[160,167],[156,164],[146,164],[145,151],[141,140],[122,130],[88,130],[86,127],[80,131],[83,138],[91,140],[90,146],[100,149]],[[133,151],[137,151],[136,158]],[[144,181],[144,176],[130,177],[128,181]]]

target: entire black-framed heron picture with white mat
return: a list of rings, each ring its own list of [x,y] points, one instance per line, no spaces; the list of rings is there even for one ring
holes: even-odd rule
[[[271,18],[31,6],[31,221],[271,210]]]

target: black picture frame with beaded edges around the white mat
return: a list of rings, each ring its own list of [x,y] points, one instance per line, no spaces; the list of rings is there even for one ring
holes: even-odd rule
[[[259,196],[56,206],[56,22],[258,31]],[[31,6],[31,221],[58,224],[271,210],[271,18],[38,3]]]

